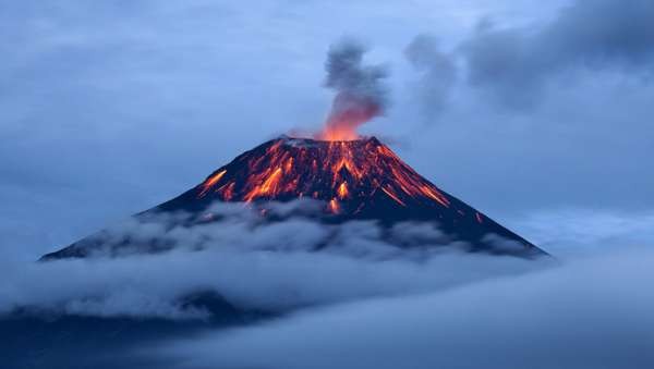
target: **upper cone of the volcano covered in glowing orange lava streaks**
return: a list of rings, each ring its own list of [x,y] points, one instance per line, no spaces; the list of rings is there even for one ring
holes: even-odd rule
[[[326,142],[280,138],[237,158],[198,186],[197,197],[223,201],[308,196],[332,213],[356,212],[376,196],[397,206],[449,208],[450,200],[376,138]],[[429,205],[431,204],[431,205]]]

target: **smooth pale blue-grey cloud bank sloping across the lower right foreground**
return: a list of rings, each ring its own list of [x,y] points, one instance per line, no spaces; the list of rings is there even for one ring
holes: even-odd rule
[[[652,249],[622,250],[450,291],[307,310],[171,342],[159,354],[173,353],[178,368],[652,368]]]

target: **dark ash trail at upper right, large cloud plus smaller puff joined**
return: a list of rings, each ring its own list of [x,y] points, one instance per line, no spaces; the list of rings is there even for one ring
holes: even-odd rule
[[[542,25],[504,26],[484,17],[452,52],[419,35],[405,57],[420,74],[417,98],[429,118],[449,101],[459,67],[464,86],[484,99],[529,110],[548,88],[566,88],[589,71],[651,78],[652,19],[654,3],[646,0],[576,0]]]

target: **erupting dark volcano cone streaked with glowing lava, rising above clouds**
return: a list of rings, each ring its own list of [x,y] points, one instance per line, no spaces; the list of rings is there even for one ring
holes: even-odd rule
[[[215,222],[210,208],[217,202],[240,202],[256,208],[263,223],[279,222],[271,204],[311,200],[319,204],[307,213],[320,223],[338,226],[351,221],[373,221],[382,227],[429,223],[472,253],[536,257],[543,250],[499,225],[479,210],[441,190],[404,163],[377,138],[318,140],[281,136],[249,150],[219,168],[205,181],[182,195],[134,216],[148,219],[185,213],[184,226]],[[246,235],[243,235],[246,236]],[[85,257],[101,248],[107,232],[83,238],[41,259]],[[130,237],[111,247],[143,246]],[[146,242],[147,243],[147,242]],[[399,247],[438,247],[424,245]],[[156,248],[156,247],[155,247]]]

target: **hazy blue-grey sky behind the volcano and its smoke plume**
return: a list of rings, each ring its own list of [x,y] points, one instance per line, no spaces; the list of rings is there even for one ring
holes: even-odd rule
[[[364,133],[445,190],[536,243],[652,239],[653,14],[647,0],[0,0],[0,246],[35,258],[316,130],[343,36],[389,70],[388,111]]]

